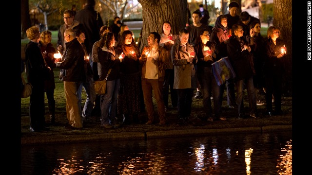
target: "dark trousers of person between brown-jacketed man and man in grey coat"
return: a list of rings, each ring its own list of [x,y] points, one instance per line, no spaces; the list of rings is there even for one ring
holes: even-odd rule
[[[177,92],[176,89],[174,89],[174,82],[175,82],[175,70],[173,69],[167,69],[165,70],[165,77],[164,77],[164,83],[162,86],[163,90],[163,99],[164,104],[166,107],[168,107],[168,101],[169,101],[169,86],[170,86],[170,96],[171,96],[171,104],[172,107],[176,107],[177,105]]]

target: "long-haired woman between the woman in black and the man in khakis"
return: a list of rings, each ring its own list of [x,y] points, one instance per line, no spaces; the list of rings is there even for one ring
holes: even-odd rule
[[[51,69],[50,78],[44,81],[44,91],[48,99],[50,122],[51,124],[54,124],[55,123],[55,100],[54,100],[55,80],[54,80],[53,68],[56,67],[56,64],[54,63],[55,59],[53,58],[53,55],[56,52],[56,50],[51,43],[52,33],[50,31],[43,31],[40,34],[40,37],[41,39],[39,41],[39,45],[40,45],[43,58]]]

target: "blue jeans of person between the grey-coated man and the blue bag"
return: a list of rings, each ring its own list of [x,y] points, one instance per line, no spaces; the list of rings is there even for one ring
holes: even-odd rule
[[[213,118],[210,97],[214,97],[214,111],[215,118],[220,118],[221,105],[223,97],[223,86],[218,86],[213,75],[212,68],[204,68],[204,73],[197,74],[200,83],[201,91],[203,93],[203,105],[207,118]]]

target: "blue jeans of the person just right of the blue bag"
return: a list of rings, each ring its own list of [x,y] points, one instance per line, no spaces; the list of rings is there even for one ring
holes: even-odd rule
[[[249,108],[250,108],[249,113],[250,115],[253,115],[257,112],[257,104],[256,104],[257,100],[255,95],[253,77],[238,80],[236,82],[238,114],[244,114],[244,102],[243,102],[244,84],[246,84],[247,86]]]

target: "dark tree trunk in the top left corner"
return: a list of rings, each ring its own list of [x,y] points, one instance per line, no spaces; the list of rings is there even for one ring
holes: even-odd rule
[[[31,27],[28,0],[20,0],[20,38],[26,37],[26,30]]]

